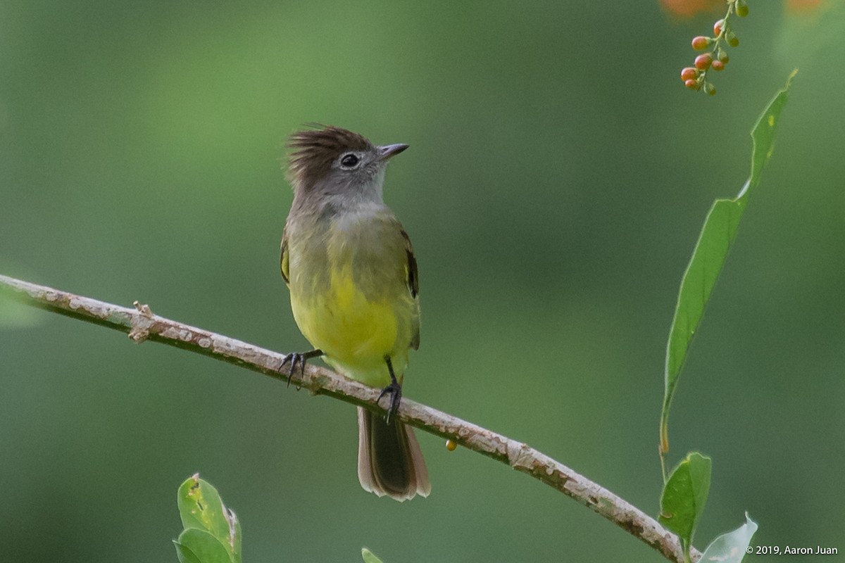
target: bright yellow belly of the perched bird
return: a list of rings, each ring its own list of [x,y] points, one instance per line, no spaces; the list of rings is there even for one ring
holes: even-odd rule
[[[407,363],[407,342],[397,346],[398,324],[393,295],[368,300],[353,282],[352,269],[330,276],[330,286],[307,297],[291,293],[293,317],[314,348],[346,376],[373,387],[384,387],[390,355],[396,376]],[[407,338],[407,337],[406,337]]]

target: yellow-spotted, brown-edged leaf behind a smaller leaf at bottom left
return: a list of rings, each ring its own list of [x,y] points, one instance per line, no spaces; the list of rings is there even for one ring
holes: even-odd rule
[[[241,563],[241,524],[208,481],[199,479],[199,474],[186,479],[179,487],[177,505],[186,532],[196,529],[209,533],[224,546],[232,563]]]

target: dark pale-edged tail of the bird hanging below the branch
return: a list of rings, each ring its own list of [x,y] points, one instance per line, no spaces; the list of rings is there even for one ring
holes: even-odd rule
[[[396,501],[428,496],[428,469],[413,429],[358,407],[358,480],[364,490]]]

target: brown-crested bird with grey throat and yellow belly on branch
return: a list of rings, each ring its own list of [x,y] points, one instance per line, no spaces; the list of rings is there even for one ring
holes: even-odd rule
[[[386,420],[358,407],[358,480],[405,501],[428,496],[428,470],[412,428],[395,420],[408,350],[419,348],[417,260],[384,204],[384,169],[406,144],[377,146],[340,127],[293,133],[293,203],[281,241],[281,275],[293,317],[314,349],[282,369],[322,356],[337,371],[388,395]]]

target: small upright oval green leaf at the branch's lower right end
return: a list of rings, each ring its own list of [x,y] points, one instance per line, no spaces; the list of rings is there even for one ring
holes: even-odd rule
[[[692,543],[695,527],[704,512],[710,492],[711,465],[710,457],[691,452],[663,485],[660,522],[677,533],[685,545]]]

